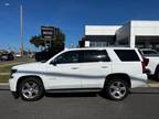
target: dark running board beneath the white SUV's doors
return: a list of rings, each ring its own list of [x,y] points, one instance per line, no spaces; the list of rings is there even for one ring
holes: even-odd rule
[[[102,88],[46,89],[46,93],[98,93]]]

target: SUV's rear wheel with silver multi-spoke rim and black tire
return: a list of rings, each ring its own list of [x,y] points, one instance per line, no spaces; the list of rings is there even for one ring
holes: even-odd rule
[[[105,84],[104,93],[107,98],[113,100],[123,100],[128,96],[129,84],[120,78],[113,77]]]

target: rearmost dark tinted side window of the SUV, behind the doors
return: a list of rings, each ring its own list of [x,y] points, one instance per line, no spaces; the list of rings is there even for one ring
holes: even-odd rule
[[[121,62],[140,61],[135,50],[114,50]]]

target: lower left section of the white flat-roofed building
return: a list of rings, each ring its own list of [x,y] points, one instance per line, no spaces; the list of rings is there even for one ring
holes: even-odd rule
[[[100,47],[109,46],[115,43],[116,31],[119,25],[86,25],[85,36],[80,41],[81,47]]]

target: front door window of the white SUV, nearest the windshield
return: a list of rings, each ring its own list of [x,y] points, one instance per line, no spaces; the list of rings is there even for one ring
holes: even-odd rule
[[[54,62],[56,64],[66,64],[66,63],[78,63],[80,62],[80,52],[78,51],[68,51],[60,56],[57,56]]]

